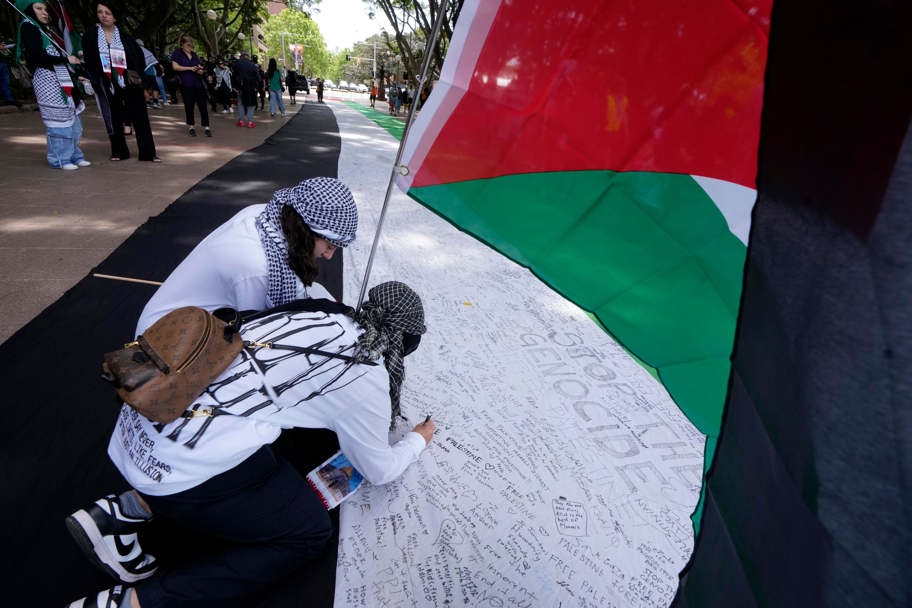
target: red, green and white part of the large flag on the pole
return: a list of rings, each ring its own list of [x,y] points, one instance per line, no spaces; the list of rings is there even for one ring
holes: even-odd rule
[[[466,0],[398,179],[654,367],[708,436],[707,467],[756,198],[771,9]]]

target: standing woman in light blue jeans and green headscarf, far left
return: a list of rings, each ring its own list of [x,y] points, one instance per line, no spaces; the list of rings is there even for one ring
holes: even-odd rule
[[[51,169],[74,170],[92,163],[79,149],[82,120],[79,114],[86,108],[79,88],[73,86],[68,64],[78,65],[77,57],[61,53],[47,36],[50,15],[44,0],[18,0],[16,8],[28,15],[19,25],[16,62],[27,57],[34,70],[32,86],[41,120],[47,128],[47,164]],[[23,54],[25,51],[25,54]],[[85,80],[85,78],[83,78]]]

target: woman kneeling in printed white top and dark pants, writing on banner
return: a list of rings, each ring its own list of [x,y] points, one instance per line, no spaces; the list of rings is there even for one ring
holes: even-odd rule
[[[108,454],[134,489],[67,518],[88,559],[121,584],[70,608],[251,603],[319,555],[332,524],[301,473],[273,450],[282,428],[334,431],[348,461],[374,485],[397,479],[420,458],[433,437],[430,420],[389,444],[389,426],[400,418],[403,357],[426,331],[418,294],[389,282],[370,290],[360,313],[335,302],[305,304],[242,325],[248,346],[187,416],[161,425],[121,408]],[[264,346],[272,340],[334,356]],[[140,547],[153,514],[223,541],[156,572]],[[118,537],[131,541],[126,556],[113,551]]]

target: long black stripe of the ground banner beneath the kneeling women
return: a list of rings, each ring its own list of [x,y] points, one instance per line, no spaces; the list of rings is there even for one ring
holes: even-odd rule
[[[306,104],[264,144],[213,171],[150,218],[91,273],[164,281],[197,243],[237,211],[268,202],[275,190],[302,180],[337,177],[340,149],[332,110]],[[338,299],[341,253],[337,250],[321,266],[317,278]],[[114,584],[88,562],[64,520],[93,500],[130,489],[107,455],[119,403],[98,375],[102,356],[133,339],[155,286],[99,279],[91,273],[0,345],[6,384],[6,430],[0,441],[0,596],[8,605],[35,603],[40,596],[41,605],[62,606]],[[275,448],[310,470],[332,454],[322,451],[337,446],[329,431],[312,433],[309,442],[322,449],[299,454],[302,442],[286,437]],[[334,520],[337,523],[337,516]],[[212,546],[212,539],[179,530],[161,518],[153,524],[156,528],[140,542],[162,565]],[[331,541],[316,563],[290,576],[285,585],[294,589],[318,582],[328,591],[312,593],[310,600],[316,603],[308,605],[331,606],[336,550],[336,541]],[[296,605],[290,599],[294,594],[283,594],[282,586],[271,593],[278,594],[263,605]],[[265,597],[267,593],[248,605]]]

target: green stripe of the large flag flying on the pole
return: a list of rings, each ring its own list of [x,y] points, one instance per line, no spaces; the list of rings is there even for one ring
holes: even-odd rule
[[[409,196],[595,314],[658,370],[710,438],[709,465],[747,248],[693,178],[559,171],[412,188]]]

